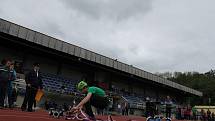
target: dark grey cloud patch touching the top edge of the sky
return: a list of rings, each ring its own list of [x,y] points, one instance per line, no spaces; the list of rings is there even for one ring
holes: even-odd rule
[[[145,15],[152,9],[153,0],[64,0],[72,11],[78,11],[94,19],[126,20]]]

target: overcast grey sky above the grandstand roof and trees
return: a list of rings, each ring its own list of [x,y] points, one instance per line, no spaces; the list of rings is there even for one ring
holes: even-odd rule
[[[215,69],[214,0],[0,0],[0,18],[150,72]]]

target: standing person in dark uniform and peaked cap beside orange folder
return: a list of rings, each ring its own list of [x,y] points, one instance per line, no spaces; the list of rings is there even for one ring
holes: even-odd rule
[[[32,112],[32,106],[35,101],[35,96],[38,89],[43,89],[42,87],[42,77],[40,73],[39,63],[33,64],[33,70],[26,74],[25,82],[26,82],[26,93],[25,98],[22,104],[22,111],[26,110],[26,106],[28,104],[28,112]]]

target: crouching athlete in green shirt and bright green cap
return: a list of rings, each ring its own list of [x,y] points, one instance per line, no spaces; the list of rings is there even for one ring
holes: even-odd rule
[[[78,90],[86,94],[86,97],[72,110],[80,110],[85,106],[86,113],[95,119],[91,106],[94,106],[97,109],[103,110],[108,106],[109,100],[106,97],[105,91],[98,87],[88,87],[87,83],[81,81],[77,85]]]

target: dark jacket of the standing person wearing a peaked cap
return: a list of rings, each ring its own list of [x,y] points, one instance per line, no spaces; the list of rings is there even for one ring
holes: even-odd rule
[[[25,75],[25,82],[26,84],[30,84],[32,87],[36,89],[43,88],[43,82],[42,82],[42,77],[40,72],[38,72],[38,77],[37,77],[37,73],[34,70],[30,71]]]

